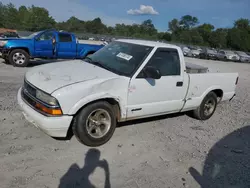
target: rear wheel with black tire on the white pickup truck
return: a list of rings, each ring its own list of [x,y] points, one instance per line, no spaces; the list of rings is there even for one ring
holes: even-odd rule
[[[213,105],[210,112],[206,114],[205,105],[211,102]],[[207,96],[202,100],[201,105],[193,111],[193,116],[198,120],[208,120],[214,114],[216,107],[217,107],[217,95],[214,92],[210,92]]]

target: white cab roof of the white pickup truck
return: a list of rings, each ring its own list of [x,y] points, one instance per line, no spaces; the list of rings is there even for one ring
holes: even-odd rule
[[[167,44],[167,43],[155,42],[155,41],[147,41],[147,40],[118,39],[116,41],[126,42],[126,43],[131,43],[131,44],[151,46],[151,47],[179,48],[178,46],[173,45],[173,44]]]

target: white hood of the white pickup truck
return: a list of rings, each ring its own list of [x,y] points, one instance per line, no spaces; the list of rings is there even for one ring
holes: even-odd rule
[[[83,60],[40,65],[25,74],[25,79],[29,83],[49,94],[74,83],[115,77],[119,77],[119,75]]]

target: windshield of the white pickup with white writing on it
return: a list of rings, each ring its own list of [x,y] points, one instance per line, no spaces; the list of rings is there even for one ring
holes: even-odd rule
[[[96,63],[115,74],[131,77],[152,49],[149,46],[115,41],[89,56],[91,61],[88,62]]]

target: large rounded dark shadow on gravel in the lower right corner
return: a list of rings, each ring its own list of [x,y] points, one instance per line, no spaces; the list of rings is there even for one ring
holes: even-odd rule
[[[202,175],[192,167],[189,172],[202,188],[250,187],[250,126],[230,133],[212,147]]]

